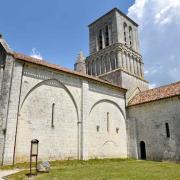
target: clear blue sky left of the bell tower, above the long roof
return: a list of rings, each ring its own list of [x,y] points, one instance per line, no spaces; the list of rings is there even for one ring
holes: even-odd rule
[[[88,24],[114,7],[127,13],[133,0],[4,0],[0,32],[10,47],[26,55],[73,68],[77,54],[89,54]]]

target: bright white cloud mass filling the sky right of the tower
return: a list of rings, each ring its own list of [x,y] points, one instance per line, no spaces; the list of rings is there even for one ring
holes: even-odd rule
[[[151,87],[180,80],[180,0],[135,0],[145,76]]]

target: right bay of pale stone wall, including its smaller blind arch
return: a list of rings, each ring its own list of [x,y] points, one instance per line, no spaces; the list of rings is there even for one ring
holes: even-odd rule
[[[94,83],[89,84],[86,93],[88,106],[84,117],[84,138],[86,138],[84,158],[126,158],[124,95]]]

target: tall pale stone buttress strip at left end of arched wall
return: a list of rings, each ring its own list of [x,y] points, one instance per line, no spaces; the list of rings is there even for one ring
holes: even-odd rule
[[[5,114],[6,121],[4,122],[5,137],[4,137],[4,152],[3,152],[3,164],[12,164],[14,157],[14,143],[16,135],[16,125],[18,118],[19,108],[19,96],[21,89],[21,77],[22,77],[23,64],[15,61],[12,70],[12,79],[9,82],[7,91],[9,91],[9,99],[7,103],[7,109]],[[4,80],[5,81],[5,80]],[[4,86],[5,87],[5,86]]]

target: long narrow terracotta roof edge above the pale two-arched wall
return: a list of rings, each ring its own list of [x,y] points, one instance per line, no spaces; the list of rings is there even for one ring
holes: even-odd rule
[[[80,72],[77,72],[77,71],[73,71],[73,70],[70,70],[70,69],[67,69],[67,68],[62,68],[62,67],[60,67],[58,65],[48,63],[45,60],[40,60],[40,59],[33,58],[33,57],[30,57],[30,56],[26,56],[24,54],[16,53],[16,52],[14,53],[14,58],[25,61],[25,62],[45,66],[45,67],[48,67],[48,68],[51,68],[51,69],[54,69],[54,70],[58,70],[58,71],[61,71],[61,72],[65,72],[65,73],[68,73],[68,74],[72,74],[72,75],[75,75],[75,76],[79,76],[79,77],[82,77],[82,78],[85,78],[85,79],[88,79],[88,80],[98,81],[100,83],[104,83],[104,84],[110,85],[112,87],[119,88],[119,89],[123,90],[124,92],[127,91],[125,88],[113,85],[108,81],[105,81],[105,80],[102,80],[102,79],[99,79],[97,77],[90,76],[90,75],[87,75],[87,74],[83,74],[83,73],[80,73]]]

